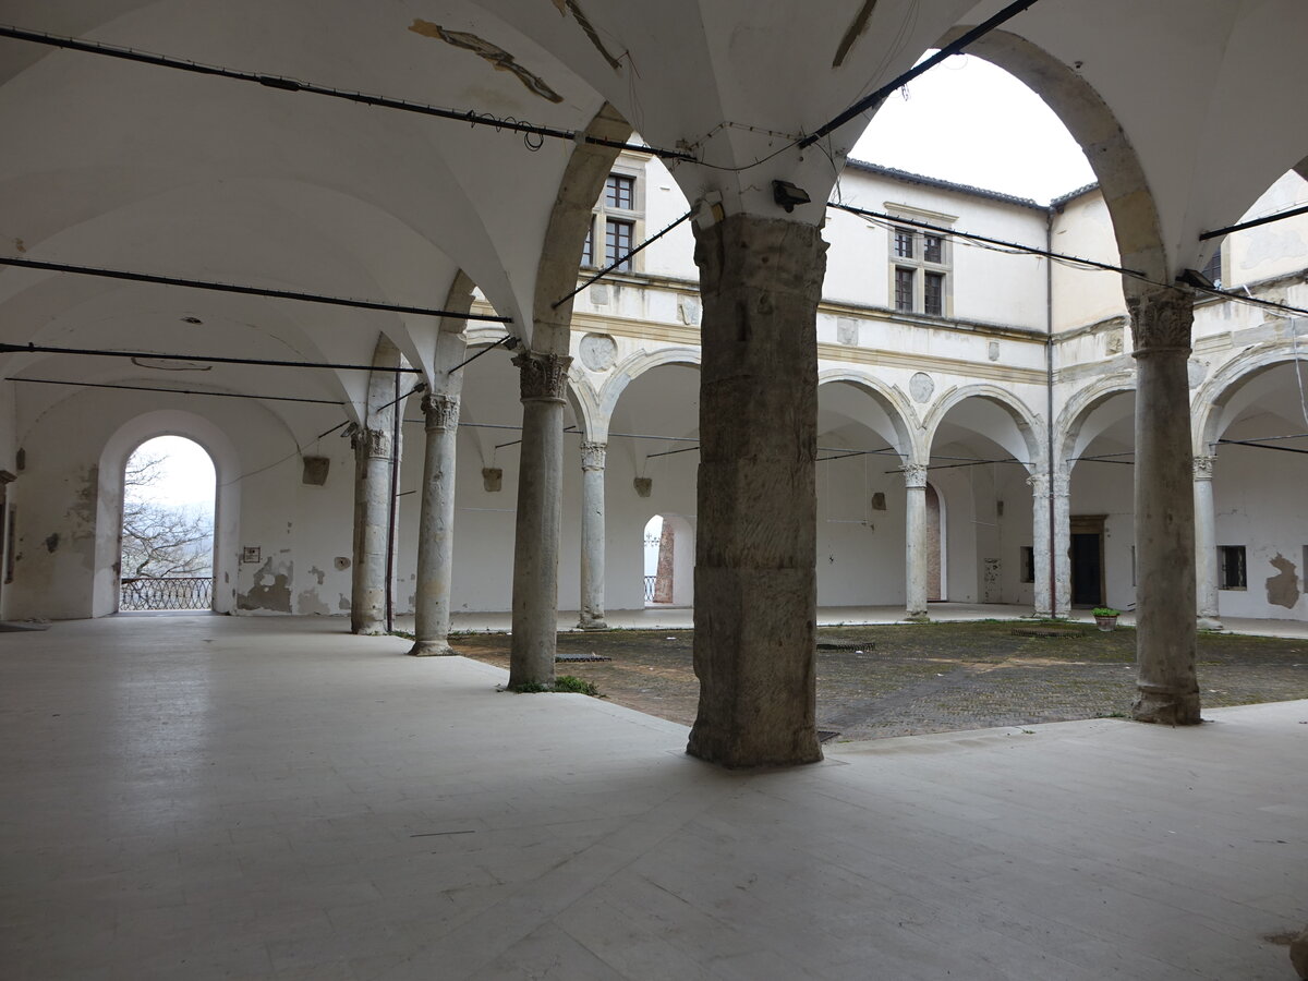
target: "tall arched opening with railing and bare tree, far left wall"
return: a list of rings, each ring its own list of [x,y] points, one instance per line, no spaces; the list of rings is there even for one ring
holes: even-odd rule
[[[120,610],[213,607],[215,471],[179,436],[146,439],[123,468]]]

